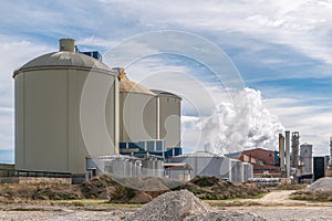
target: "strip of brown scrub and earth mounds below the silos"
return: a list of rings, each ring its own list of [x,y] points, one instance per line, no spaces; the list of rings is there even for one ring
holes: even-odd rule
[[[186,183],[160,178],[128,178],[120,181],[124,185],[114,181],[110,176],[103,175],[81,186],[50,183],[1,185],[0,201],[70,201],[71,206],[83,207],[81,201],[75,200],[103,199],[110,203],[135,204],[149,202],[159,194],[180,189],[187,189],[205,200],[257,198],[263,192],[253,183],[234,185],[217,177],[196,177]],[[135,188],[129,188],[133,183]]]

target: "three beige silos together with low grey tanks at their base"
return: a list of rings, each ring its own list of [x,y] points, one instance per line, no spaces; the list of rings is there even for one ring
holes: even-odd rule
[[[110,88],[102,112],[94,109],[98,93],[85,90],[91,77],[92,92]],[[59,52],[25,63],[13,78],[15,170],[177,180],[199,175],[234,182],[252,177],[250,164],[206,152],[183,155],[181,97],[131,81],[124,69],[104,64],[98,52],[80,52],[72,39],[61,39]],[[92,102],[86,104],[93,116],[82,112],[82,97]]]

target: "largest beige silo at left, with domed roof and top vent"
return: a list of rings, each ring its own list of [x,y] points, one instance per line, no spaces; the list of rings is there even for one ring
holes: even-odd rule
[[[112,85],[106,94],[107,116],[104,117],[112,145],[95,140],[95,146],[87,149],[82,136],[80,104],[89,74],[96,82]],[[85,157],[118,152],[116,74],[102,62],[75,53],[74,40],[60,40],[59,52],[28,62],[13,77],[15,169],[82,173]]]

